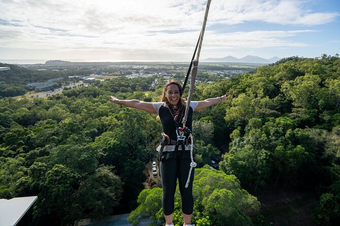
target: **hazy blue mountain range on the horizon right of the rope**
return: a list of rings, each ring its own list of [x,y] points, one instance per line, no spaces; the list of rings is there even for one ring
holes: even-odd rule
[[[281,58],[279,57],[272,57],[270,59],[265,59],[262,57],[258,56],[245,56],[242,58],[236,58],[233,56],[227,56],[223,58],[208,58],[208,59],[203,59],[202,61],[204,62],[234,62],[234,63],[262,63],[262,64],[268,64],[268,63],[274,63],[277,60],[280,60]]]

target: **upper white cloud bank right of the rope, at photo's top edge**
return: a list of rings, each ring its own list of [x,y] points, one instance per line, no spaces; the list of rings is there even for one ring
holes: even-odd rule
[[[219,1],[211,6],[218,9],[210,16],[214,23],[238,24],[246,21],[262,21],[288,25],[319,25],[332,22],[340,14],[312,13],[304,6],[311,1]]]

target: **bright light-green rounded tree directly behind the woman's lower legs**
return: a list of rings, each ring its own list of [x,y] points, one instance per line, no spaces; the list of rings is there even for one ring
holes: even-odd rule
[[[252,225],[251,218],[245,213],[259,210],[256,197],[240,188],[239,180],[234,175],[208,167],[195,169],[193,185],[194,214],[193,223],[198,225]],[[153,188],[143,190],[139,197],[139,206],[134,210],[129,221],[137,225],[140,218],[151,217],[156,223],[164,221],[161,208],[162,190]],[[177,185],[175,193],[174,225],[183,224],[180,210],[180,194]]]

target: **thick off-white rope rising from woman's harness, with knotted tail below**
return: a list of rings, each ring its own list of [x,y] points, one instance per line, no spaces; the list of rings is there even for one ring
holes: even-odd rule
[[[193,68],[193,71],[191,73],[191,82],[190,82],[190,89],[189,89],[189,95],[188,95],[188,101],[187,101],[187,107],[186,107],[186,114],[184,115],[184,118],[182,120],[183,128],[186,126],[186,123],[187,123],[187,118],[188,118],[188,112],[189,112],[189,108],[190,108],[191,97],[192,97],[192,95],[194,93],[194,87],[195,87],[195,81],[196,81],[196,75],[197,75],[198,60],[200,58],[201,47],[202,47],[202,42],[203,42],[203,35],[204,35],[205,25],[206,25],[207,18],[208,18],[210,3],[211,3],[211,0],[208,0],[206,8],[205,8],[205,14],[204,14],[204,19],[203,19],[203,25],[202,25],[202,30],[201,30],[198,50],[197,50],[197,54],[196,54],[196,59],[193,61],[194,68]],[[194,162],[194,157],[193,157],[193,153],[194,153],[194,139],[193,139],[192,134],[190,134],[189,138],[191,138],[191,149],[190,149],[191,163],[190,163],[190,170],[189,170],[189,175],[188,175],[188,179],[187,179],[187,183],[186,183],[186,188],[188,188],[189,183],[190,183],[191,172],[192,172],[193,168],[197,166],[197,164]]]

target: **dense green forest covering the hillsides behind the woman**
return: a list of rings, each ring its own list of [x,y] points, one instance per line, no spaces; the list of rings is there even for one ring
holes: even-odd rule
[[[38,196],[19,224],[69,225],[131,211],[134,225],[143,217],[163,223],[162,188],[143,184],[161,123],[156,115],[107,101],[110,95],[159,101],[164,84],[151,89],[152,82],[117,78],[47,98],[0,99],[0,198]],[[194,114],[193,223],[268,225],[252,194],[290,189],[313,191],[315,225],[336,225],[338,55],[284,58],[254,73],[201,83],[193,99],[224,94],[226,103]],[[220,170],[206,165],[214,157],[223,159]],[[176,194],[177,225],[183,223],[179,199]]]

